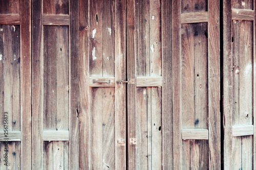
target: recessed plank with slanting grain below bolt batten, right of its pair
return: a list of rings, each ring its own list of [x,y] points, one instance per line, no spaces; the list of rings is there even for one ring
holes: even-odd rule
[[[115,169],[115,89],[102,88],[103,169]]]

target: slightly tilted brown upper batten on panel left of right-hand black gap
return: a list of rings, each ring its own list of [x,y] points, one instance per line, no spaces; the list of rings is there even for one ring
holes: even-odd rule
[[[183,23],[200,23],[208,21],[208,12],[193,12],[181,14],[181,24]]]

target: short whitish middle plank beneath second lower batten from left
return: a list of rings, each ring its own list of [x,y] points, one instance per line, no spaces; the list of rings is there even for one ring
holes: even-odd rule
[[[53,169],[64,169],[63,142],[53,142]]]

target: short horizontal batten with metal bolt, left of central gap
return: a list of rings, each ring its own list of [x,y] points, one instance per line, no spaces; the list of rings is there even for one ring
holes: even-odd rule
[[[90,77],[90,87],[115,87],[114,77]]]

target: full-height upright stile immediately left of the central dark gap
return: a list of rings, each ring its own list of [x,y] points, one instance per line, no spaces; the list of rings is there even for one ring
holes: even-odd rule
[[[116,80],[125,80],[125,61],[126,61],[126,43],[125,43],[125,16],[126,1],[115,2],[115,78]],[[126,109],[125,109],[125,85],[116,84],[115,86],[115,139],[116,139],[116,168],[126,168]]]

